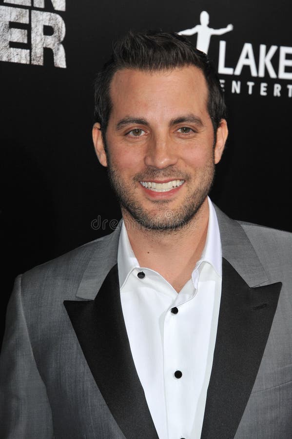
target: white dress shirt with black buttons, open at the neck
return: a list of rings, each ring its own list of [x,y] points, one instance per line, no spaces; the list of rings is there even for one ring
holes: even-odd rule
[[[159,273],[139,266],[124,224],[119,238],[123,316],[160,439],[196,439],[201,435],[222,280],[219,227],[209,198],[208,203],[205,248],[192,278],[179,294]],[[143,278],[137,276],[140,272],[145,274]]]

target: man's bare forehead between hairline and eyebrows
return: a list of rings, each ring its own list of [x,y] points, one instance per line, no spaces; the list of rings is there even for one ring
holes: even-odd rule
[[[205,77],[195,66],[171,70],[118,70],[111,82],[112,111],[207,111],[208,87]]]

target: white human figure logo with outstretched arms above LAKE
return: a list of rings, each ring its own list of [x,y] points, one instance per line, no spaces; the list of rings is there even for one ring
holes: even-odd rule
[[[228,24],[227,27],[222,29],[212,29],[209,27],[209,14],[207,11],[202,11],[200,14],[200,22],[201,24],[197,24],[192,29],[186,29],[184,31],[178,32],[178,35],[194,35],[198,34],[196,48],[201,50],[202,52],[208,53],[210,39],[212,35],[222,35],[226,32],[230,32],[233,30],[233,24]]]

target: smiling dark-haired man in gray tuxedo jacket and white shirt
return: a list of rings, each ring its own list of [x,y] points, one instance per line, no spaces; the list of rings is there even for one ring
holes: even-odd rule
[[[292,239],[208,199],[224,114],[184,37],[116,44],[93,140],[123,222],[17,279],[1,437],[291,438]]]

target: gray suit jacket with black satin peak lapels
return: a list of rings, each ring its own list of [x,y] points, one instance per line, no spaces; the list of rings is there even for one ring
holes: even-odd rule
[[[291,439],[292,235],[217,217],[222,297],[201,438]],[[121,311],[118,236],[16,280],[0,438],[157,439]]]

